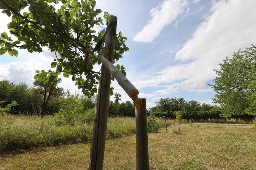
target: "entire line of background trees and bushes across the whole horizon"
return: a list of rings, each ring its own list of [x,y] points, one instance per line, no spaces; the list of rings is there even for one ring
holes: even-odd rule
[[[59,83],[61,80],[57,79],[57,82]],[[34,87],[30,88],[25,83],[15,84],[8,80],[2,80],[0,81],[0,101],[2,101],[0,105],[5,108],[13,101],[17,102],[17,105],[13,105],[9,109],[9,112],[19,115],[51,115],[63,110],[66,111],[67,105],[69,105],[69,108],[72,108],[73,105],[75,112],[78,110],[84,112],[95,107],[96,97],[88,98],[79,94],[71,94],[69,91],[64,92],[62,88],[57,87],[58,83],[47,85],[35,80]],[[54,89],[52,94],[49,93],[50,89]],[[134,104],[130,101],[120,102],[122,101],[121,97],[118,93],[114,94],[115,100],[114,102],[110,101],[109,104],[109,116],[135,117]],[[79,105],[78,110],[76,105]],[[248,114],[246,111],[239,114],[233,112],[227,117],[224,107],[212,106],[196,100],[187,101],[183,98],[162,98],[156,102],[155,107],[148,109],[148,115],[166,116],[170,119],[176,119],[177,112],[181,114],[182,119],[188,121],[190,119],[192,121],[218,121],[226,118],[251,121],[254,118],[252,114]]]

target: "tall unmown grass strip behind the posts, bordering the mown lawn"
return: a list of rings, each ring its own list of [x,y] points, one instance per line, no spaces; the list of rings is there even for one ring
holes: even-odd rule
[[[93,125],[88,122],[91,116],[88,118],[88,115],[78,115],[68,119],[64,116],[60,114],[57,117],[46,116],[43,118],[38,116],[0,116],[0,152],[91,141]],[[66,120],[70,120],[72,123],[64,123]],[[169,124],[170,122],[168,121]],[[161,125],[164,126],[163,123]],[[108,119],[107,139],[134,133],[134,118]]]

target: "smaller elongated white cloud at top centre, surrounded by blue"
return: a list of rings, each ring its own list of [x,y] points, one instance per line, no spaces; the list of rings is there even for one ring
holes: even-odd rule
[[[160,34],[165,26],[176,20],[179,14],[183,14],[188,6],[186,0],[164,0],[160,5],[149,11],[151,20],[136,34],[134,41],[152,42]]]

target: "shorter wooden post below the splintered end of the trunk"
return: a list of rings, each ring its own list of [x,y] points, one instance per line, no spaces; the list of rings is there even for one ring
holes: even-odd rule
[[[141,114],[135,109],[136,115],[136,169],[149,170],[148,161],[148,130],[146,99],[139,99]]]

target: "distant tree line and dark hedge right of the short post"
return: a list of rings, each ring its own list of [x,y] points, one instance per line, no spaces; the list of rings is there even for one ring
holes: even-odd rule
[[[182,119],[187,121],[218,122],[227,119],[225,111],[217,105],[199,103],[196,100],[187,101],[183,98],[164,98],[156,102],[156,106],[149,108],[149,114],[156,117],[166,116],[170,119],[176,119],[180,114]],[[252,121],[253,115],[231,114],[230,117],[238,121],[239,119]]]

